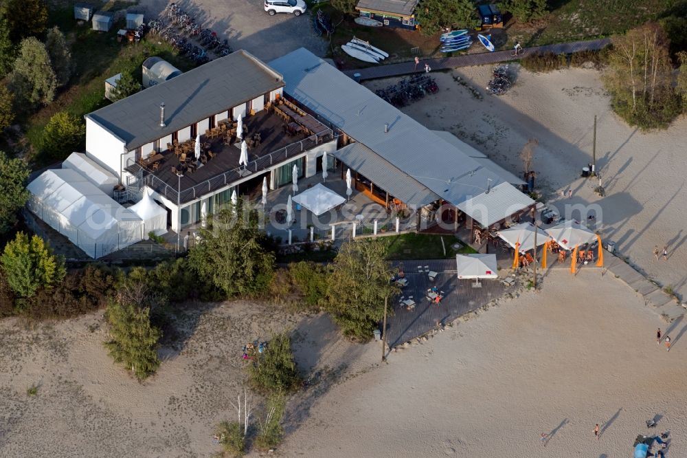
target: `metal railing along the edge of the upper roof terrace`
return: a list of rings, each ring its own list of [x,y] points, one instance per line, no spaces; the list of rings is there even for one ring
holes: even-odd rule
[[[232,170],[226,171],[221,175],[215,175],[214,177],[206,179],[204,182],[196,184],[192,188],[183,189],[181,190],[181,194],[178,195],[178,197],[176,188],[170,186],[162,179],[159,179],[153,173],[144,175],[143,184],[155,190],[155,192],[157,192],[159,195],[163,195],[172,202],[176,202],[178,198],[182,204],[185,204],[186,202],[197,199],[203,195],[206,195],[207,193],[212,192],[213,190],[223,188],[224,186],[230,185],[233,182],[238,181],[239,179],[244,177],[244,175],[246,174],[245,171],[250,171],[251,173],[262,171],[269,166],[279,164],[280,162],[289,160],[291,157],[294,157],[310,149],[313,149],[315,146],[324,144],[326,142],[330,142],[331,140],[335,140],[337,136],[338,135],[335,135],[332,129],[327,128],[326,130],[313,134],[308,138],[304,138],[303,140],[299,140],[298,142],[288,144],[284,146],[282,149],[273,151],[268,155],[258,157],[258,159],[249,162],[245,167],[233,168]],[[137,171],[144,170],[139,164],[136,164],[135,162],[129,164],[127,168],[134,174],[136,174]]]

